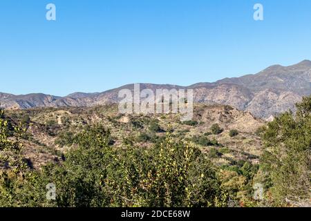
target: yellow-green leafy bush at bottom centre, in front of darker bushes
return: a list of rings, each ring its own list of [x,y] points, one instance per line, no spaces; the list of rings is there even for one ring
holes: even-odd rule
[[[120,159],[125,179],[111,182],[122,196],[116,198],[118,205],[213,206],[225,200],[211,163],[196,148],[174,143],[170,135],[149,150],[122,151]]]

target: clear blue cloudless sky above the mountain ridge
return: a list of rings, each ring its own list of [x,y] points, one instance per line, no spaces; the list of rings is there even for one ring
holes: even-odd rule
[[[55,3],[57,21],[46,20]],[[254,21],[262,3],[264,21]],[[311,59],[310,0],[1,0],[0,91],[190,85]]]

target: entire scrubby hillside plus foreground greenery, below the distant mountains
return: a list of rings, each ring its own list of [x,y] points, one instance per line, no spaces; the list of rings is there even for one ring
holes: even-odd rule
[[[195,104],[187,122],[171,113],[120,114],[117,104],[2,110],[0,172],[22,171],[14,203],[28,206],[162,206],[158,193],[166,206],[178,194],[187,206],[189,189],[194,206],[309,206],[310,102],[304,97],[295,116],[268,124],[220,104]],[[50,182],[58,195],[47,202],[37,193]],[[265,198],[256,198],[256,185]]]

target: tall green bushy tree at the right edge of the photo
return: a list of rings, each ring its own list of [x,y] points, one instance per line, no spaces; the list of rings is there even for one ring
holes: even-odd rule
[[[311,96],[296,104],[297,112],[283,113],[263,134],[261,161],[276,203],[310,199]]]

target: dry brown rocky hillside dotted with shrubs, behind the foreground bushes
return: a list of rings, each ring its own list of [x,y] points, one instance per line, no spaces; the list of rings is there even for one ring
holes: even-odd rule
[[[75,148],[75,136],[88,126],[104,125],[111,130],[113,146],[122,148],[126,140],[135,145],[151,146],[171,131],[176,140],[185,140],[209,153],[216,164],[232,164],[238,160],[256,163],[261,155],[258,128],[261,119],[231,106],[196,104],[194,119],[180,122],[176,114],[122,115],[117,105],[88,108],[32,108],[6,112],[11,124],[22,122],[27,129],[23,137],[25,157],[32,166],[39,168],[47,162],[62,159],[62,154]],[[211,133],[211,126],[218,124],[221,131]],[[155,126],[156,125],[156,126]],[[236,130],[238,134],[229,136]]]

